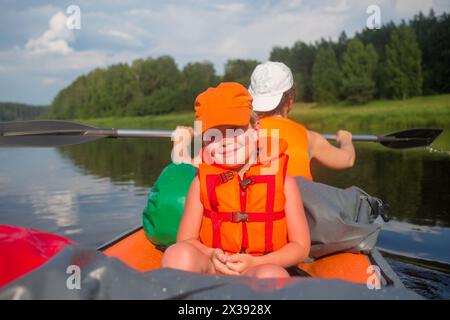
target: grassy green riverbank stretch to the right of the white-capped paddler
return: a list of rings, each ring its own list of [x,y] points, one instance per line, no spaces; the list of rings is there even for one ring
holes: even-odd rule
[[[347,129],[376,134],[414,127],[450,129],[450,94],[377,100],[355,106],[297,104],[290,116],[319,132]]]

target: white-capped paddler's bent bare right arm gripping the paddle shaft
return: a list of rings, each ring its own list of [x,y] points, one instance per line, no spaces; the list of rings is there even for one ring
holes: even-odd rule
[[[339,130],[337,142],[340,148],[331,145],[321,134],[308,130],[308,145],[311,158],[315,158],[322,165],[331,169],[353,167],[356,154],[351,133]]]

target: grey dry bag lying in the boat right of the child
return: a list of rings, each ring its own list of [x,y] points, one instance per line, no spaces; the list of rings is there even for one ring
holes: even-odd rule
[[[336,252],[370,252],[388,206],[357,187],[339,189],[296,177],[311,234],[310,257]]]

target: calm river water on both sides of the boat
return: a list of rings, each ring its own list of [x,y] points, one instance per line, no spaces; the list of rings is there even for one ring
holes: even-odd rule
[[[445,142],[445,141],[444,141]],[[313,164],[320,182],[359,186],[390,204],[378,247],[405,285],[450,298],[450,153],[357,144],[354,168]],[[170,162],[167,140],[102,140],[61,148],[0,148],[0,223],[98,246],[141,224],[147,193]]]

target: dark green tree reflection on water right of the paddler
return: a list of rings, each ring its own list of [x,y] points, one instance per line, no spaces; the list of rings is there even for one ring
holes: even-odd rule
[[[313,164],[316,180],[338,187],[359,186],[391,207],[397,220],[450,226],[450,157],[427,150],[357,147],[354,168],[331,171]]]

